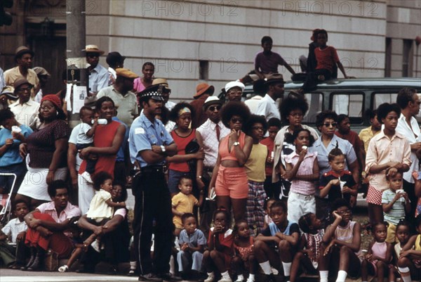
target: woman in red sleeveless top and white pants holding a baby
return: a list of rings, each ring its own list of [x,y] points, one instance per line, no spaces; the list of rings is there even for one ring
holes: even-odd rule
[[[95,172],[108,172],[114,175],[114,165],[116,163],[116,154],[121,143],[123,143],[126,127],[120,122],[112,120],[114,115],[115,105],[112,98],[107,96],[101,97],[95,104],[95,109],[100,115],[100,119],[106,119],[107,124],[98,125],[95,129],[95,136],[93,136],[94,146],[83,148],[79,155],[83,159],[79,169],[79,208],[82,214],[88,211],[89,204],[95,190],[91,183],[86,182],[81,174],[86,169],[86,158],[97,156],[98,160],[95,165]]]

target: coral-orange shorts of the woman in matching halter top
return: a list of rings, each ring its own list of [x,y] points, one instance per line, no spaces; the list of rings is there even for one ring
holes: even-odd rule
[[[215,183],[216,196],[232,199],[248,198],[248,180],[244,167],[222,167],[218,170]]]

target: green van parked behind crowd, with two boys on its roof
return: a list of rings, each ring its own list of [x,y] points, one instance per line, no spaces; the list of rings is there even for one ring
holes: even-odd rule
[[[285,94],[291,90],[298,90],[302,82],[287,82]],[[316,115],[322,110],[335,110],[338,114],[345,114],[351,120],[352,130],[359,132],[370,125],[368,117],[364,116],[366,110],[376,109],[382,103],[396,103],[398,92],[410,87],[417,89],[421,94],[420,78],[358,78],[358,79],[331,79],[318,84],[317,89],[305,94],[309,103],[309,111],[303,123],[314,127]],[[247,85],[243,96],[255,96],[253,85]],[[417,117],[421,122],[421,114]]]

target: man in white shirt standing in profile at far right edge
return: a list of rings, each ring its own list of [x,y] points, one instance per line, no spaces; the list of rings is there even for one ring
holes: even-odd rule
[[[401,108],[401,116],[398,120],[396,132],[406,136],[410,143],[410,160],[412,165],[408,172],[403,173],[403,190],[408,193],[410,199],[410,213],[408,219],[414,219],[415,208],[417,207],[417,197],[415,196],[415,181],[411,174],[419,170],[419,161],[415,154],[421,149],[421,133],[420,125],[415,119],[415,115],[420,112],[420,98],[417,91],[412,88],[403,88],[399,91],[396,103]]]

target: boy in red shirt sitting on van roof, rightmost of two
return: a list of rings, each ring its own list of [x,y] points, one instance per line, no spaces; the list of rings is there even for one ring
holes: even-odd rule
[[[317,34],[317,44],[319,47],[314,49],[317,66],[314,72],[308,73],[307,79],[302,85],[302,91],[304,91],[304,93],[316,89],[317,83],[330,79],[333,73],[333,65],[335,64],[338,65],[342,75],[344,75],[345,78],[348,78],[344,66],[340,63],[335,47],[326,45],[327,41],[328,32],[326,32],[326,30],[319,30],[319,34]]]

